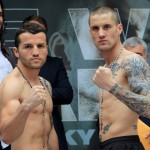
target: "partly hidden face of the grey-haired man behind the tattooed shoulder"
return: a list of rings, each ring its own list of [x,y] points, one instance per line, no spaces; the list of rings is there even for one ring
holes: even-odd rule
[[[146,59],[145,53],[144,53],[144,47],[142,45],[137,46],[125,46],[125,48],[131,52],[134,52],[136,54],[139,54],[144,59]]]

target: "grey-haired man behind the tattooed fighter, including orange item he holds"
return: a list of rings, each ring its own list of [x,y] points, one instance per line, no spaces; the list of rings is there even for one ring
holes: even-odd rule
[[[139,37],[130,37],[123,42],[125,49],[142,56],[148,62],[148,49],[144,40]],[[140,116],[138,119],[138,135],[145,148],[150,148],[150,119]]]

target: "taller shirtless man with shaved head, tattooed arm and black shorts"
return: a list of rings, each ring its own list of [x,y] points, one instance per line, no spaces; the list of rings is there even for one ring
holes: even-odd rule
[[[100,149],[143,150],[137,135],[139,115],[150,118],[150,70],[121,43],[122,24],[115,10],[95,8],[89,18],[92,39],[105,60],[94,77],[100,88]]]

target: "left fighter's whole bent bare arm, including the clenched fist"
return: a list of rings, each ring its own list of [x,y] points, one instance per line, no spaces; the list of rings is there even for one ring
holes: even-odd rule
[[[22,133],[32,109],[43,103],[46,91],[43,86],[34,86],[26,99],[21,99],[24,85],[9,79],[0,87],[0,132],[1,140],[6,144],[15,141]],[[16,79],[17,80],[17,79]],[[39,92],[44,92],[41,95]]]

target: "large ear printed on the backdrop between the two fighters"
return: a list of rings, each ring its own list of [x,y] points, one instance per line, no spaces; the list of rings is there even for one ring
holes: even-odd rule
[[[70,61],[65,51],[67,40],[66,34],[55,32],[52,34],[49,40],[49,49],[52,56],[61,57],[63,59],[65,68],[67,70],[71,70]]]

